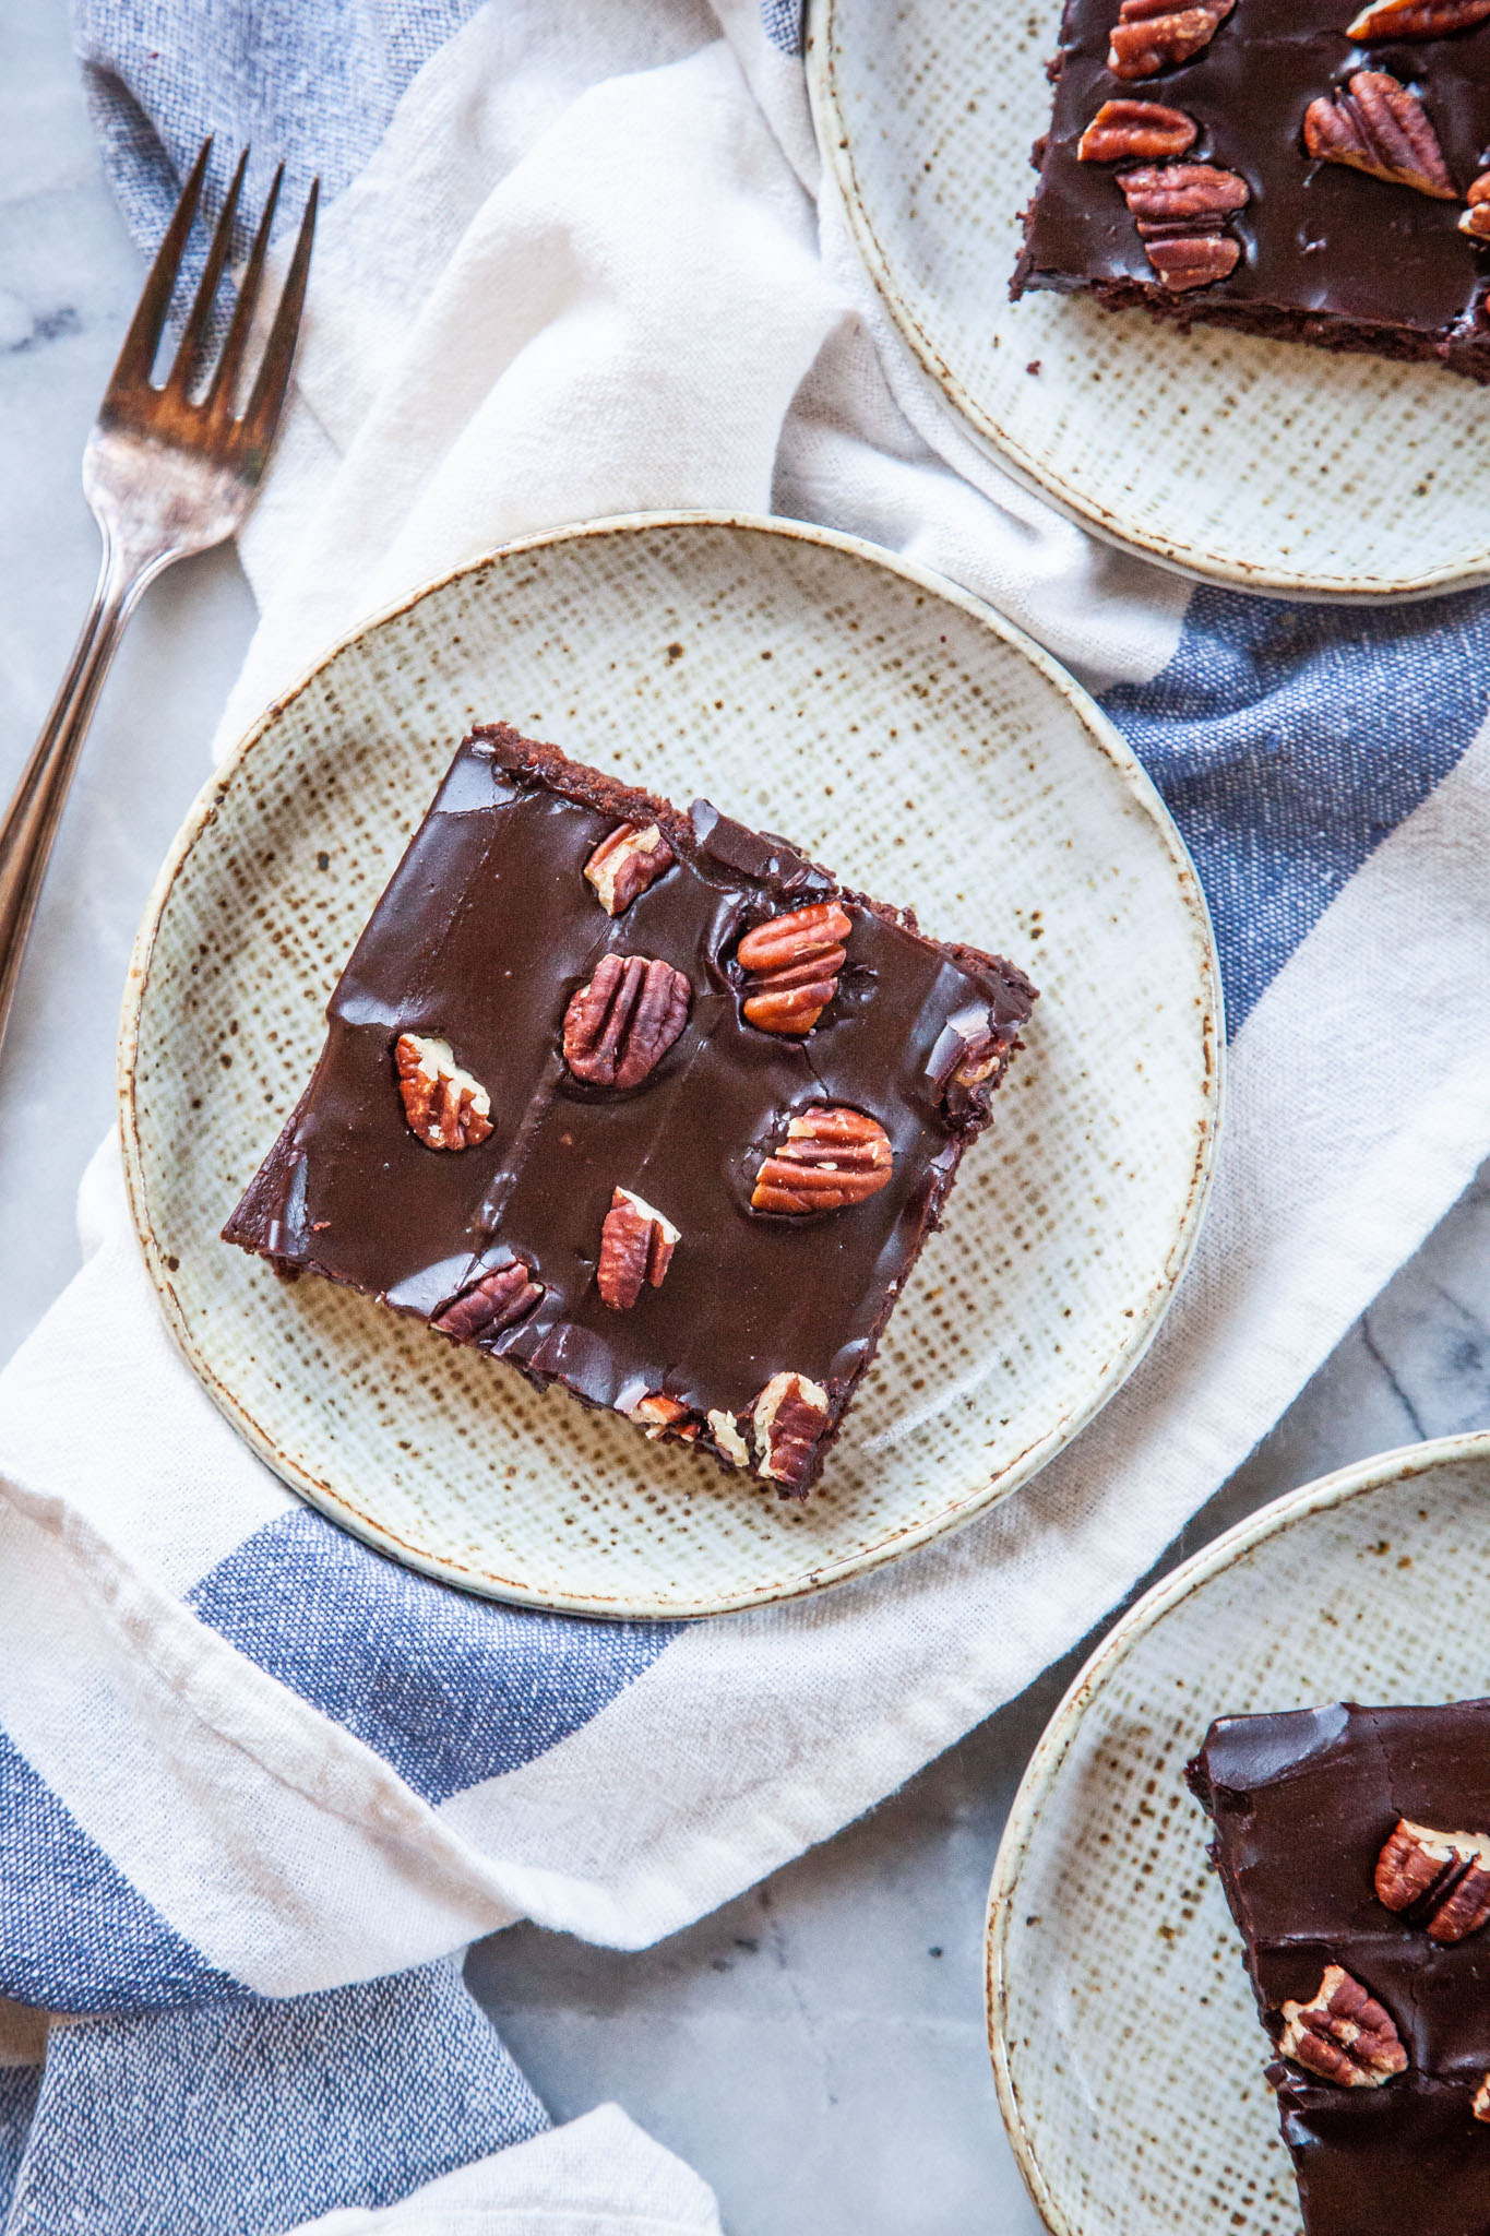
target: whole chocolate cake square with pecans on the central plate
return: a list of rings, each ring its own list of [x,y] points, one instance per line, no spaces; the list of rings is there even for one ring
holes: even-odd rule
[[[806,1496],[1034,988],[476,729],[223,1234]]]

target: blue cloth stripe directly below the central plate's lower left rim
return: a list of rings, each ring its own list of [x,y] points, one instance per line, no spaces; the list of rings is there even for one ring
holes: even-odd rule
[[[588,1623],[467,1599],[319,1514],[266,1523],[192,1590],[219,1637],[344,1724],[427,1802],[579,1731],[684,1623]]]

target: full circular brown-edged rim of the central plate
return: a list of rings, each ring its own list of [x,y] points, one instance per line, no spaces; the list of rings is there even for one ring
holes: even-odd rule
[[[1112,1353],[1108,1364],[1092,1375],[1090,1391],[1086,1400],[1063,1415],[1043,1438],[1030,1444],[1023,1453],[1014,1456],[1005,1469],[976,1496],[970,1496],[952,1509],[918,1523],[894,1536],[885,1536],[878,1545],[844,1554],[835,1561],[824,1561],[818,1567],[797,1572],[797,1576],[786,1583],[771,1583],[762,1588],[739,1588],[715,1592],[708,1599],[652,1599],[646,1594],[628,1592],[625,1599],[599,1601],[596,1597],[567,1594],[556,1590],[534,1590],[527,1583],[494,1576],[489,1572],[474,1572],[460,1563],[438,1558],[422,1547],[409,1545],[398,1538],[384,1523],[360,1514],[333,1485],[319,1480],[308,1467],[304,1467],[295,1456],[279,1449],[275,1438],[266,1433],[248,1409],[248,1402],[228,1389],[226,1382],[214,1373],[210,1359],[199,1348],[181,1301],[174,1292],[170,1279],[170,1261],[165,1248],[154,1234],[154,1219],[150,1207],[150,1185],[143,1169],[143,1143],[139,1131],[139,1109],[134,1098],[134,1062],[139,1053],[141,1020],[145,1002],[150,999],[150,970],[154,961],[154,946],[161,921],[170,906],[176,881],[190,861],[197,845],[210,832],[217,812],[232,789],[237,776],[241,774],[250,754],[261,745],[268,731],[284,718],[288,707],[328,669],[335,660],[357,646],[364,637],[375,635],[389,622],[409,613],[424,597],[436,590],[447,588],[467,575],[491,572],[505,561],[520,557],[532,550],[543,550],[556,543],[585,543],[599,537],[621,537],[621,534],[650,534],[657,530],[672,532],[677,528],[715,528],[715,530],[744,530],[751,534],[764,534],[771,539],[811,543],[827,550],[838,550],[844,557],[858,559],[873,566],[880,572],[889,572],[925,590],[927,595],[943,599],[974,622],[987,628],[990,635],[999,637],[1014,653],[1023,655],[1043,680],[1063,698],[1083,731],[1088,733],[1095,749],[1104,751],[1112,765],[1112,774],[1126,785],[1133,803],[1148,816],[1164,841],[1173,868],[1175,885],[1179,890],[1186,915],[1191,917],[1195,930],[1195,946],[1200,955],[1197,991],[1204,1004],[1202,1026],[1200,1026],[1200,1058],[1204,1071],[1211,1080],[1209,1109],[1202,1114],[1195,1143],[1195,1163],[1191,1169],[1191,1181],[1186,1190],[1184,1216],[1175,1230],[1168,1245],[1168,1254],[1155,1281],[1155,1292],[1142,1317],[1135,1317],[1133,1328],[1124,1337],[1121,1346]],[[1101,1406],[1121,1389],[1135,1366],[1142,1362],[1144,1353],[1153,1344],[1159,1326],[1171,1308],[1175,1288],[1191,1261],[1195,1241],[1200,1237],[1200,1225],[1204,1219],[1211,1178],[1215,1172],[1215,1149],[1220,1136],[1220,1118],[1224,1107],[1224,1080],[1226,1080],[1226,1058],[1224,1058],[1224,997],[1220,979],[1220,959],[1215,950],[1215,932],[1211,926],[1211,912],[1206,906],[1200,877],[1184,845],[1184,839],[1164,805],[1153,778],[1137,760],[1121,731],[1104,716],[1090,693],[1072,678],[1068,671],[1032,637],[1028,637],[1014,622],[996,613],[983,599],[963,590],[958,584],[918,561],[902,559],[898,552],[889,552],[878,543],[869,543],[865,537],[849,534],[844,530],[820,528],[809,521],[789,521],[773,514],[757,512],[735,512],[735,510],[708,510],[708,508],[681,508],[666,512],[623,512],[610,514],[596,521],[565,523],[561,528],[545,528],[534,534],[514,537],[507,543],[498,543],[474,559],[465,559],[460,566],[447,568],[445,572],[422,581],[418,588],[402,593],[389,606],[382,606],[373,615],[357,622],[346,635],[319,653],[304,673],[284,691],[279,691],[268,707],[248,724],[248,729],[237,738],[237,742],[223,754],[221,762],[212,769],[206,785],[197,794],[197,800],[185,814],[176,839],[172,841],[161,870],[152,883],[150,897],[145,901],[145,912],[134,937],[134,948],[130,957],[130,970],[125,977],[123,1011],[118,1022],[118,1044],[116,1044],[116,1105],[118,1105],[118,1131],[125,1165],[125,1194],[130,1203],[130,1219],[134,1225],[136,1241],[145,1259],[145,1272],[156,1292],[156,1301],[163,1310],[165,1326],[185,1357],[188,1366],[197,1375],[201,1389],[208,1393],[212,1404],[223,1413],[230,1427],[243,1438],[243,1442],[255,1451],[270,1471],[286,1482],[297,1496],[302,1496],[317,1512],[326,1514],[340,1527],[348,1529],[353,1536],[373,1545],[375,1552],[389,1554],[418,1574],[433,1576],[438,1583],[456,1585],[458,1590],[474,1592],[483,1599],[496,1599],[509,1605],[543,1608],[556,1614],[583,1614],[610,1621],[697,1621],[713,1614],[735,1614],[748,1608],[775,1605],[791,1599],[802,1599],[806,1594],[827,1590],[835,1583],[844,1583],[853,1576],[867,1574],[882,1567],[885,1563],[900,1558],[905,1552],[914,1552],[918,1545],[927,1545],[934,1538],[947,1536],[954,1529],[976,1520],[976,1516],[990,1512],[1003,1498],[1021,1489],[1032,1476],[1039,1474],[1099,1411]]]

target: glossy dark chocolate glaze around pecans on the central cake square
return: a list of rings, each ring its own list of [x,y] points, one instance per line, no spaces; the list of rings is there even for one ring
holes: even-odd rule
[[[677,865],[612,919],[583,865],[623,818],[659,821]],[[833,897],[853,932],[815,1031],[744,1024],[742,932]],[[661,957],[693,986],[684,1033],[628,1093],[576,1082],[561,1055],[570,995],[610,948]],[[833,1402],[827,1449],[987,1116],[981,1096],[954,1118],[943,1107],[949,1024],[992,1020],[1007,1055],[1032,997],[1010,964],[925,939],[708,803],[681,816],[552,747],[476,731],[342,973],[311,1087],[223,1232],[422,1319],[516,1254],[545,1295],[485,1348],[529,1377],[621,1411],[666,1393],[697,1427],[748,1411],[773,1373],[800,1373]],[[451,1042],[491,1096],[489,1140],[449,1154],[413,1138],[393,1076],[400,1033]],[[811,1102],[880,1120],[889,1185],[824,1219],[753,1212],[760,1154]],[[621,1313],[594,1286],[617,1185],[681,1230],[661,1288]],[[706,1431],[695,1449],[710,1449]]]

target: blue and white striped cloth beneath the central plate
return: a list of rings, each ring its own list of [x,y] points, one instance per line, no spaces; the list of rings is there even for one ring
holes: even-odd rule
[[[76,22],[141,241],[206,127],[223,165],[250,139],[328,188],[223,733],[514,532],[690,503],[851,528],[1101,686],[1200,865],[1231,1026],[1206,1234],[1099,1422],[958,1538],[704,1626],[471,1601],[297,1505],[176,1359],[101,1152],[83,1272],[0,1377],[0,1997],[112,2017],[54,2030],[36,2117],[0,2053],[7,2229],[270,2232],[532,2135],[442,1959],[518,1916],[641,1945],[894,1789],[1128,1590],[1465,1185],[1490,597],[1188,593],[1003,483],[815,210],[786,0]],[[424,2062],[402,2109],[369,2041]],[[190,2115],[141,2111],[183,2073]],[[261,2117],[304,2144],[261,2162]]]

